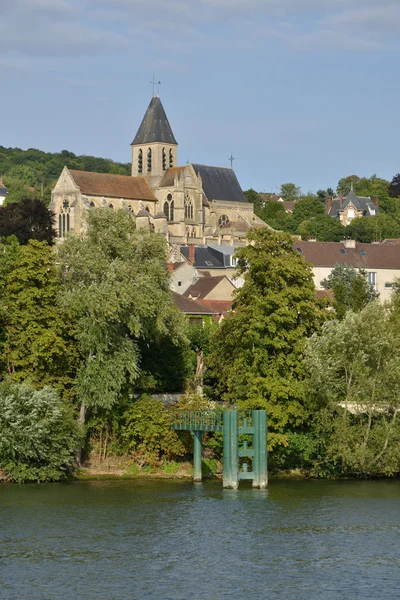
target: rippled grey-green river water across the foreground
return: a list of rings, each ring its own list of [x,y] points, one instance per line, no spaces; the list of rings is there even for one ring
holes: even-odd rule
[[[6,600],[392,600],[400,482],[0,486]]]

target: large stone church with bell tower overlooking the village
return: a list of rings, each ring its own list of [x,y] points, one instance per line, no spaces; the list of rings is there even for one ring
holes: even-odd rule
[[[126,210],[138,227],[163,234],[170,244],[241,245],[251,227],[266,226],[232,168],[178,166],[178,142],[158,95],[131,148],[131,176],[64,167],[50,203],[59,240],[69,231],[84,232],[91,207]]]

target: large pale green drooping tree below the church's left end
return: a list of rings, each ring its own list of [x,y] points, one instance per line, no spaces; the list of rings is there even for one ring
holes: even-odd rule
[[[138,381],[141,344],[160,338],[184,344],[185,326],[169,292],[165,240],[136,230],[127,213],[91,210],[87,235],[71,235],[57,260],[60,305],[82,356],[76,380],[82,425],[88,409],[112,409]]]

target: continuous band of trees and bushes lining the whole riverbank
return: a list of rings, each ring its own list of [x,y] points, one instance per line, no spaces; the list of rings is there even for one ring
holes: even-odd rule
[[[399,287],[382,306],[362,272],[342,269],[328,307],[290,235],[261,229],[249,241],[234,312],[217,326],[177,311],[163,238],[123,212],[89,211],[87,235],[56,247],[3,238],[3,476],[57,481],[88,456],[173,473],[193,448],[171,429],[174,411],[232,406],[267,410],[272,472],[397,475]],[[179,400],[165,405],[164,392]],[[221,456],[221,434],[205,436],[210,472]]]

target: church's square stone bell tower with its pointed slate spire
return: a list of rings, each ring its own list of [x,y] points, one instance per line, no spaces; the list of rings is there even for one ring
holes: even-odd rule
[[[132,177],[145,177],[157,189],[165,172],[177,165],[178,156],[178,142],[158,95],[151,99],[131,147]]]

